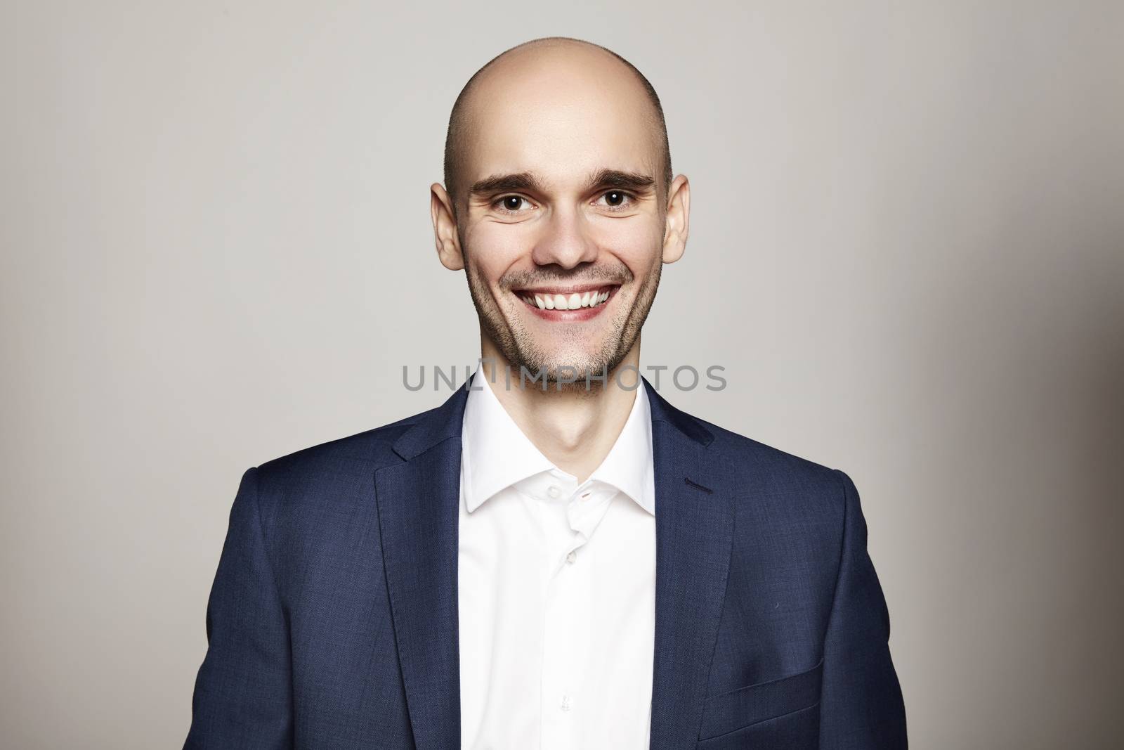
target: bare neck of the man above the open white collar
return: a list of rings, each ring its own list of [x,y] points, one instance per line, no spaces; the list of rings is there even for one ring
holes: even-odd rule
[[[591,380],[588,389],[583,379],[562,390],[555,383],[547,383],[544,390],[541,382],[529,380],[520,387],[519,368],[489,350],[483,349],[480,372],[504,409],[554,466],[578,481],[588,479],[609,454],[632,412],[636,390],[644,387],[640,381],[640,341],[605,383]]]

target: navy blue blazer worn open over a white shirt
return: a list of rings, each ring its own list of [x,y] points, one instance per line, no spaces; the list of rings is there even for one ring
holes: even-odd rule
[[[889,614],[851,478],[644,387],[652,750],[906,748]],[[460,747],[466,396],[243,475],[185,748]]]

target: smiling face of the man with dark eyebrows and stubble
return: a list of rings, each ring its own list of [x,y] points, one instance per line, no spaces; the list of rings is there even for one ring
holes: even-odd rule
[[[513,64],[477,91],[465,138],[469,289],[486,353],[584,379],[622,362],[655,297],[662,144],[640,84],[605,58]]]

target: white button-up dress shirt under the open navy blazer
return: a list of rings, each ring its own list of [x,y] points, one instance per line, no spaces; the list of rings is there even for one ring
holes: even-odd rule
[[[461,747],[646,750],[655,632],[647,394],[634,391],[616,443],[579,484],[499,403],[502,376],[489,383],[478,369],[472,387],[457,555]]]

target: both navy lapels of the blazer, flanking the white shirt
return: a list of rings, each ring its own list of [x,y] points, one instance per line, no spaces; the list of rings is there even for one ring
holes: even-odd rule
[[[714,434],[643,378],[652,415],[656,575],[651,749],[698,740],[733,540],[733,497]],[[395,638],[419,750],[459,747],[459,388],[393,444],[400,463],[374,472]]]

